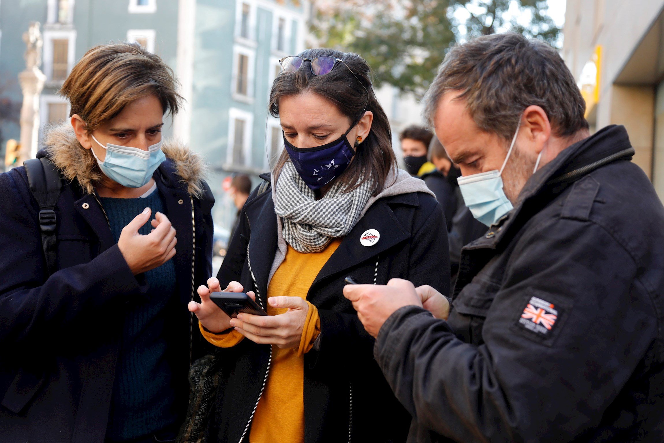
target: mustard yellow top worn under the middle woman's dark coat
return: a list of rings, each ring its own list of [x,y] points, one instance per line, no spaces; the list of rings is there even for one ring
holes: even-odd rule
[[[272,276],[268,298],[276,296],[307,297],[307,292],[327,259],[337,250],[341,238],[336,238],[321,252],[305,254],[288,246],[284,262]],[[258,402],[251,426],[251,443],[301,443],[304,441],[304,354],[311,350],[321,331],[321,320],[315,306],[307,302],[309,311],[302,330],[299,348],[280,349],[272,345],[272,368],[265,391]],[[287,309],[272,308],[268,314],[277,315]],[[238,331],[214,334],[201,326],[203,337],[218,347],[232,347],[242,341]],[[256,381],[262,383],[262,381]]]

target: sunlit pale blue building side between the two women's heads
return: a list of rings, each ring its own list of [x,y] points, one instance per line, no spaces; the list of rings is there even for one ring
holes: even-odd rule
[[[279,60],[305,48],[305,1],[197,0],[191,132],[182,134],[205,155],[217,196],[214,220],[230,226],[234,207],[221,192],[231,173],[258,183],[283,147],[268,97],[280,72]],[[186,78],[181,78],[186,88]]]

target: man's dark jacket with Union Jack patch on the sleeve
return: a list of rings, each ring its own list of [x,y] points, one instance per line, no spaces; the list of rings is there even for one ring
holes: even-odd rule
[[[384,323],[410,441],[664,440],[664,207],[633,152],[622,126],[562,151],[463,249],[448,321]]]

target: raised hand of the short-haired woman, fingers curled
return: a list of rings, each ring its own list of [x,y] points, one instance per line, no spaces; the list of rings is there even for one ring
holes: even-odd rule
[[[142,213],[122,228],[118,248],[129,265],[133,275],[142,274],[158,268],[175,256],[175,228],[171,221],[162,213],[157,213],[152,221],[153,230],[147,235],[138,230],[150,219],[151,209],[145,208]]]

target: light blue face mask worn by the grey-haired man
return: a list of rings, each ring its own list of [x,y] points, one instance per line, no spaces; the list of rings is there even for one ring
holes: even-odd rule
[[[501,174],[503,173],[503,169],[505,169],[505,165],[507,165],[507,160],[512,153],[512,149],[514,149],[514,143],[517,141],[517,134],[520,127],[521,120],[519,120],[517,131],[514,133],[514,137],[512,137],[512,143],[509,145],[507,157],[505,157],[503,167],[501,167],[500,171],[494,169],[493,171],[466,175],[457,179],[465,205],[475,219],[487,226],[495,224],[495,222],[499,221],[501,217],[509,213],[513,208],[512,203],[505,195],[505,191],[503,191],[503,178]],[[541,157],[542,152],[540,151],[533,173],[537,171]]]

